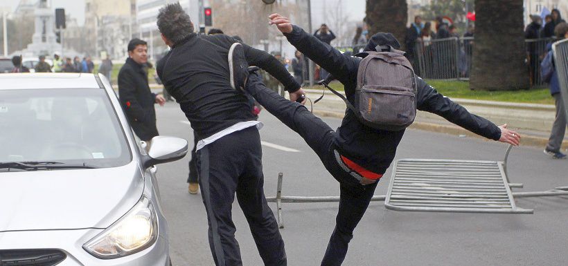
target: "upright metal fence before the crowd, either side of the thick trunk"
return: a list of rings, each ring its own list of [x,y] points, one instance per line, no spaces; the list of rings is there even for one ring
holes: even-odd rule
[[[542,86],[540,62],[553,39],[526,39],[526,67],[533,86]],[[418,39],[412,64],[420,77],[428,79],[469,79],[474,37]]]

